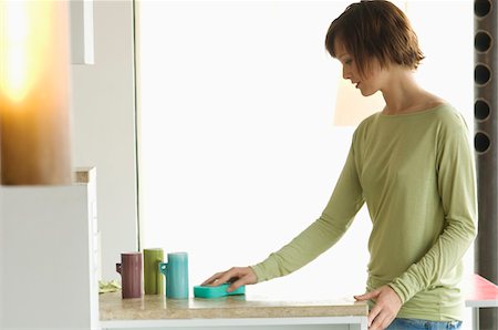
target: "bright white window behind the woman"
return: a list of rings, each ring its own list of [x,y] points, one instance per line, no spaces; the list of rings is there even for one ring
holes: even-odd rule
[[[344,1],[141,1],[142,247],[185,250],[190,281],[252,265],[324,208],[354,127],[334,126],[341,68],[324,37]],[[398,1],[426,54],[419,80],[473,130],[473,2]],[[444,19],[442,19],[444,18]],[[251,292],[361,293],[370,219]]]

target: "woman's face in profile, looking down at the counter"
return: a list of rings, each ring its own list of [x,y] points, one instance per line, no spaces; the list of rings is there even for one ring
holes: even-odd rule
[[[342,42],[335,40],[334,52],[342,64],[342,76],[349,79],[363,96],[370,96],[382,89],[385,71],[381,69],[378,61],[373,60],[363,76],[357,70],[355,60],[347,53]]]

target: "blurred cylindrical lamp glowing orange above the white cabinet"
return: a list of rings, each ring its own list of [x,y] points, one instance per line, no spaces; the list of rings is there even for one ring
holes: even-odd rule
[[[0,2],[1,184],[71,183],[68,1]]]

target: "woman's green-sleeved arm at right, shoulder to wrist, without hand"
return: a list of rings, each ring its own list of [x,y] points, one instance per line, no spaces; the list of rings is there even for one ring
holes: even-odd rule
[[[403,303],[453,270],[477,234],[475,163],[467,130],[463,120],[447,128],[439,135],[436,159],[445,228],[427,254],[390,283]]]

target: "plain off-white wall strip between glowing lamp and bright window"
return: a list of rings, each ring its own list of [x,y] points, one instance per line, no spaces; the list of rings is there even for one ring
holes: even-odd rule
[[[95,64],[73,65],[73,164],[95,166],[102,278],[137,249],[133,2],[94,0]]]

